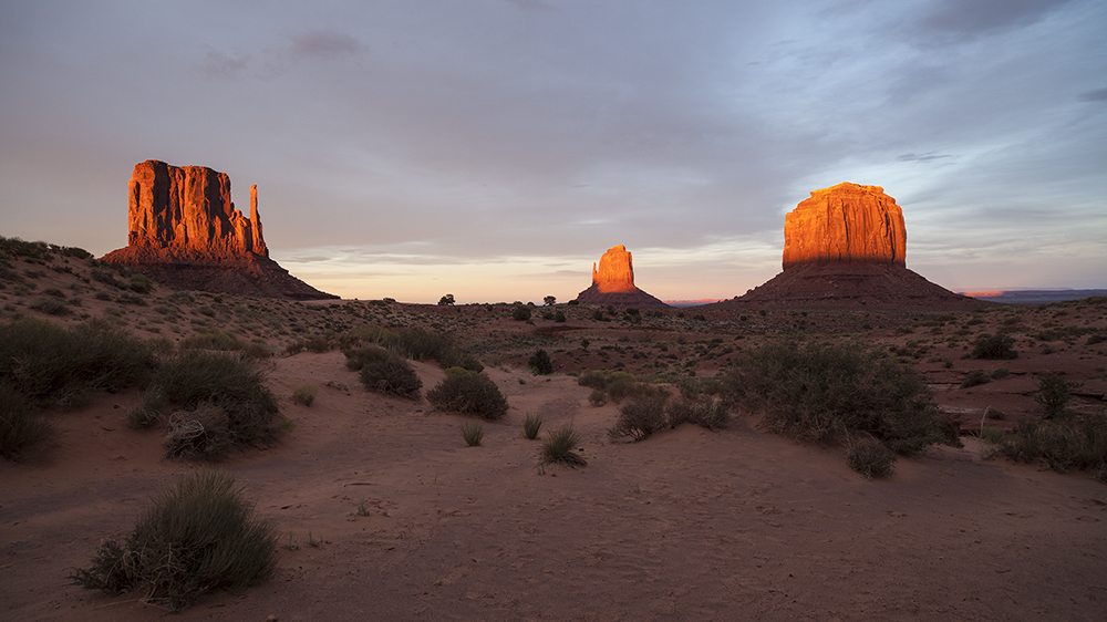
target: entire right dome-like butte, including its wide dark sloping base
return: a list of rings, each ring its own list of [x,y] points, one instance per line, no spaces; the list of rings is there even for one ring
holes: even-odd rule
[[[962,310],[990,307],[907,268],[907,227],[880,186],[815,190],[784,221],[784,271],[723,309],[869,308]]]

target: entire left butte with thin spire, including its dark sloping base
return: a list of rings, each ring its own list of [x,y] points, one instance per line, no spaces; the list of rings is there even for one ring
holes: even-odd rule
[[[235,209],[230,177],[205,166],[135,165],[127,189],[127,246],[101,259],[179,289],[293,300],[338,298],[269,258],[250,187],[250,216]]]

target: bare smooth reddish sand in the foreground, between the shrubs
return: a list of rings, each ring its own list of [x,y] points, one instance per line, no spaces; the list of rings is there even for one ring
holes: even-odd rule
[[[425,387],[443,375],[416,366]],[[270,384],[294,428],[220,467],[299,548],[281,549],[275,580],[173,619],[1107,615],[1107,486],[1087,474],[982,460],[970,440],[866,481],[840,449],[747,419],[611,444],[617,406],[588,405],[576,379],[487,373],[511,410],[485,425],[484,446],[466,447],[462,417],[366,393],[341,353],[278,359]],[[306,382],[321,387],[311,407],[290,400]],[[200,468],[159,460],[157,432],[124,426],[135,400],[104,395],[56,414],[46,462],[0,462],[0,619],[167,615],[66,580],[102,539],[130,531],[153,491]],[[538,443],[521,436],[528,412],[582,431],[588,466],[539,469]]]

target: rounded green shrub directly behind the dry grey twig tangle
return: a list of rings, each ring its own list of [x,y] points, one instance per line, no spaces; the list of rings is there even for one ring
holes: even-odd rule
[[[185,350],[163,363],[149,391],[186,411],[208,403],[221,408],[231,444],[267,443],[276,436],[280,408],[265,380],[265,372],[248,359]]]

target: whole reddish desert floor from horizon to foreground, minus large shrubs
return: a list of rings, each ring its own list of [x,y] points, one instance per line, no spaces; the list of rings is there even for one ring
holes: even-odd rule
[[[1107,334],[1105,300],[968,313],[634,315],[557,304],[516,321],[508,303],[294,302],[162,287],[139,296],[93,273],[106,270],[61,253],[14,259],[3,321],[106,318],[169,345],[211,331],[255,341],[273,353],[268,386],[291,422],[275,444],[214,465],[275,522],[277,578],[207,595],[174,619],[1094,621],[1107,611],[1107,485],[1010,462],[979,438],[985,426],[1041,416],[1036,373],[1082,383],[1073,410],[1104,411],[1107,342],[1089,336]],[[64,311],[40,303],[50,300]],[[555,310],[565,322],[544,318]],[[327,346],[363,325],[454,334],[486,365],[508,415],[468,447],[466,417],[366,392]],[[1018,357],[963,359],[982,333],[1012,336]],[[901,457],[892,475],[867,480],[841,448],[767,434],[757,413],[734,413],[721,431],[684,425],[612,442],[619,404],[593,406],[573,375],[712,377],[782,338],[859,341],[913,365],[959,422],[962,446]],[[309,346],[290,353],[297,343]],[[538,348],[554,374],[527,369]],[[445,376],[434,362],[413,365],[424,390]],[[994,380],[962,387],[976,371]],[[304,383],[320,387],[310,406],[291,397]],[[152,494],[213,466],[162,459],[162,433],[123,418],[138,398],[101,393],[53,410],[45,447],[0,462],[0,619],[169,615],[68,579],[103,540],[130,531]],[[571,422],[588,465],[539,466],[538,442],[521,433],[526,414],[547,428]]]

